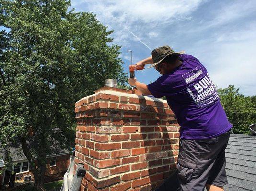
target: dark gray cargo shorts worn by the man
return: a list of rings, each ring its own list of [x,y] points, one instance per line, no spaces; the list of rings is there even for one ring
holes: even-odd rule
[[[209,139],[180,138],[176,166],[183,191],[204,191],[205,184],[224,186],[228,183],[225,149],[229,136],[230,131]]]

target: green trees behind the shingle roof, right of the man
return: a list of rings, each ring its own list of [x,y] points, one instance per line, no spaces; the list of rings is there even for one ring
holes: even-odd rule
[[[256,122],[256,96],[246,97],[234,85],[218,89],[218,94],[233,132],[249,134],[249,125]]]

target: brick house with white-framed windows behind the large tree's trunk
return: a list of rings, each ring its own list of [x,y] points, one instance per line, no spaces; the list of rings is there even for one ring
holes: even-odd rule
[[[68,169],[70,163],[69,150],[62,150],[53,148],[53,155],[47,156],[47,170],[45,173],[45,182],[51,182],[63,179],[63,175]],[[0,170],[3,173],[0,175],[0,188],[1,187],[14,187],[27,183],[24,181],[26,175],[31,175],[31,181],[34,181],[33,173],[30,170],[28,159],[21,150],[21,146],[13,146],[10,148],[12,155],[13,165],[9,168],[3,169],[3,153],[0,153]],[[37,164],[37,160],[35,160]],[[15,173],[12,174],[12,171]]]

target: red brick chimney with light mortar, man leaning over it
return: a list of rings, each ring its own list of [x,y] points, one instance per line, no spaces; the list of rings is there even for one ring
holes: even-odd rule
[[[81,191],[151,191],[176,168],[179,126],[165,100],[101,88],[75,113]]]

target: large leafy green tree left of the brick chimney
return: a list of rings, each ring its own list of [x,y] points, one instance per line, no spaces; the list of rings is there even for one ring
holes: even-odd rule
[[[111,45],[113,31],[70,0],[0,0],[0,143],[19,142],[43,191],[46,156],[74,142],[74,103],[104,85],[128,80]],[[35,165],[34,159],[38,164]]]

